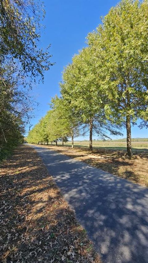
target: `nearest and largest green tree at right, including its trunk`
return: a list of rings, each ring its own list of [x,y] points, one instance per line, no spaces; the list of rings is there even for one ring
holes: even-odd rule
[[[132,155],[131,124],[146,122],[148,109],[148,1],[122,0],[88,35],[101,86],[108,96],[106,114],[127,131]],[[143,123],[145,123],[143,122]]]

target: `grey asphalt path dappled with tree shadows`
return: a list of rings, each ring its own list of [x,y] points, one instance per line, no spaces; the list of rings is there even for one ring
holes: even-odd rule
[[[33,146],[105,263],[148,263],[148,188]]]

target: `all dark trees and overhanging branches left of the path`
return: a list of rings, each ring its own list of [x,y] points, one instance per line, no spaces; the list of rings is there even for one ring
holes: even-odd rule
[[[33,98],[32,85],[51,66],[39,48],[42,6],[34,0],[0,1],[0,159],[23,140]]]

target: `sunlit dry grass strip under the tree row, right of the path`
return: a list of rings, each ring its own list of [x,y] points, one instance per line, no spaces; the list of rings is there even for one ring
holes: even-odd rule
[[[145,151],[134,152],[132,159],[129,160],[123,150],[102,148],[89,151],[80,147],[71,149],[70,146],[44,147],[50,147],[52,150],[148,187],[148,153]]]

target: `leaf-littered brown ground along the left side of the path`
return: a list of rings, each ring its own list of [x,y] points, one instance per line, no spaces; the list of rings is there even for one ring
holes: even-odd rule
[[[0,188],[0,262],[100,262],[31,147],[3,163]]]

